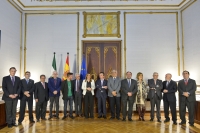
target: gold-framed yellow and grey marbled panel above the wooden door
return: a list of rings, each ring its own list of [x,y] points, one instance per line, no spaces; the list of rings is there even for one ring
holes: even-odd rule
[[[120,38],[120,12],[83,12],[86,37]]]

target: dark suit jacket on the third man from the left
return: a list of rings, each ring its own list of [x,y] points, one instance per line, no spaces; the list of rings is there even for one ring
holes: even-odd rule
[[[49,100],[49,88],[48,84],[45,82],[45,88],[41,82],[35,83],[35,99],[38,99],[39,102],[44,102]]]

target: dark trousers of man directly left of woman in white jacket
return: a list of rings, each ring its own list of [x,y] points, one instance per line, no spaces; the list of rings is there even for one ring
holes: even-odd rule
[[[76,93],[74,98],[76,115],[82,114],[82,94]]]

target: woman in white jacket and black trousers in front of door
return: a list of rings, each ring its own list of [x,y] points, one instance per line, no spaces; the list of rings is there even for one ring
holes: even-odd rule
[[[94,118],[94,89],[95,83],[91,79],[91,75],[87,74],[82,83],[84,105],[85,105],[85,118]],[[90,107],[89,111],[88,108]]]

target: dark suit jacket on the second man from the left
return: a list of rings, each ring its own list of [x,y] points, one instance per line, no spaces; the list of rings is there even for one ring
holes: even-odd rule
[[[21,80],[21,94],[20,94],[20,99],[21,100],[28,100],[28,99],[33,99],[33,92],[34,92],[34,80],[29,79],[29,82],[27,84],[26,79]],[[29,91],[30,97],[27,97],[24,95],[25,91]]]

